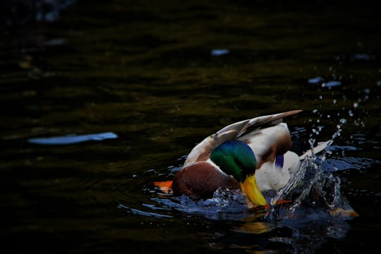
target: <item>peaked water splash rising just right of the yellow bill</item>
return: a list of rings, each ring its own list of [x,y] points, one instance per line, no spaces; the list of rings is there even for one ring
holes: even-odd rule
[[[322,169],[324,158],[313,156],[303,160],[289,183],[272,198],[266,219],[300,219],[319,213],[340,219],[358,216],[341,194],[339,177]]]

